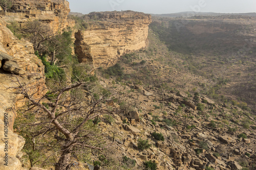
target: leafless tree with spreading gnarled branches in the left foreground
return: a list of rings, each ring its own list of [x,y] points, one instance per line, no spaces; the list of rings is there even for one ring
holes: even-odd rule
[[[40,125],[41,128],[33,132],[32,137],[53,136],[53,140],[60,148],[58,151],[60,154],[57,154],[59,159],[55,164],[56,170],[69,169],[72,164],[72,154],[82,149],[103,151],[110,147],[108,143],[111,141],[103,134],[95,133],[92,126],[97,125],[93,125],[92,122],[95,118],[100,119],[103,114],[111,114],[113,111],[111,112],[103,104],[109,101],[108,98],[104,95],[95,95],[90,81],[84,81],[88,77],[88,75],[83,79],[79,77],[79,81],[52,90],[40,99],[36,99],[33,86],[25,86],[18,79],[15,81],[17,87],[12,87],[30,102],[27,111],[34,109],[34,114],[38,110],[45,113],[43,122],[37,121],[33,124],[33,126]],[[91,127],[88,127],[89,124]],[[34,150],[35,141],[32,143]]]

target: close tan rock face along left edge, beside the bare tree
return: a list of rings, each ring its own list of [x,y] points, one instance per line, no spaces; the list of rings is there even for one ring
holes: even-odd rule
[[[0,161],[0,169],[5,170],[23,169],[18,157],[22,156],[19,152],[25,139],[13,133],[13,123],[16,109],[22,107],[25,101],[9,88],[17,87],[17,80],[30,87],[30,92],[38,97],[46,93],[44,65],[34,55],[33,45],[15,38],[5,27],[5,21],[0,19],[0,157],[8,154],[7,162]]]

